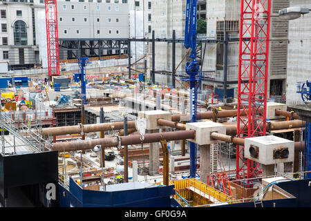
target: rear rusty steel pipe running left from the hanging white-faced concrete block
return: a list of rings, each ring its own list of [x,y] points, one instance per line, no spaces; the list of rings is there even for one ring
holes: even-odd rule
[[[123,122],[111,122],[111,123],[104,123],[104,124],[86,124],[83,126],[84,133],[91,133],[97,131],[114,131],[123,129],[124,125]],[[135,128],[135,121],[128,122],[128,128]],[[66,135],[66,134],[75,134],[81,133],[82,128],[81,126],[61,126],[57,128],[43,128],[42,135]]]

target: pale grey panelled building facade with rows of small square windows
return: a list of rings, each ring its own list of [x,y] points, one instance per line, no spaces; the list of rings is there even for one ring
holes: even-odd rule
[[[113,2],[60,1],[57,3],[59,38],[129,37],[129,6],[122,1]]]

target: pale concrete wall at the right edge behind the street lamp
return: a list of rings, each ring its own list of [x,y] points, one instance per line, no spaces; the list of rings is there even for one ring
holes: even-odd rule
[[[290,0],[290,6],[311,8],[310,0]],[[290,21],[286,104],[302,104],[296,82],[311,80],[311,14]]]

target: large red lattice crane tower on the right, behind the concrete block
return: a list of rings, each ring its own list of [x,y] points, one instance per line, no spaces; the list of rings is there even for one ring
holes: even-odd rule
[[[237,116],[239,137],[263,136],[266,132],[270,10],[271,0],[241,0]],[[242,113],[246,113],[246,116]],[[245,159],[243,152],[243,146],[236,146],[236,180],[248,188],[252,187],[252,178],[258,177],[261,169],[258,163]]]

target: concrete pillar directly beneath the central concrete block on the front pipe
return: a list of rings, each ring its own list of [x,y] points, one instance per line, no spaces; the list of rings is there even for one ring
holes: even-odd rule
[[[200,181],[207,184],[207,175],[210,174],[211,145],[200,146]]]

